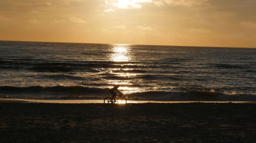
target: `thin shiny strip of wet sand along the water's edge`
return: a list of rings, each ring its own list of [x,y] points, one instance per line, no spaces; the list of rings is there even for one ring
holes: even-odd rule
[[[256,103],[255,101],[139,101],[127,100],[127,103]],[[22,98],[0,98],[0,103],[67,103],[87,104],[103,103],[103,100],[54,100],[54,99],[22,99]]]

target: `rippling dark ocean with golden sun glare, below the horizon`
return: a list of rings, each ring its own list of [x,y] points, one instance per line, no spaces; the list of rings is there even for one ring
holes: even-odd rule
[[[256,101],[256,48],[0,41],[0,98]]]

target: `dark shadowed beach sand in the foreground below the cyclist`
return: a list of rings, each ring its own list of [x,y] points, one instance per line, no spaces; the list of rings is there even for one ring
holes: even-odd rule
[[[0,142],[256,142],[256,104],[0,103]]]

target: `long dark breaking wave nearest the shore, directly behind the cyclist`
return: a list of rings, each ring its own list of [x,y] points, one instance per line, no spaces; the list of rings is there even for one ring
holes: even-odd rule
[[[88,88],[81,85],[0,87],[0,98],[31,99],[102,99],[110,96],[109,89]],[[127,100],[146,101],[256,101],[256,94],[195,90],[187,92],[148,91],[124,95]]]

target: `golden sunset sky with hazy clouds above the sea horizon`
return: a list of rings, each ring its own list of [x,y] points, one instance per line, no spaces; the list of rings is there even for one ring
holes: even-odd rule
[[[0,40],[256,47],[255,0],[0,1]]]

